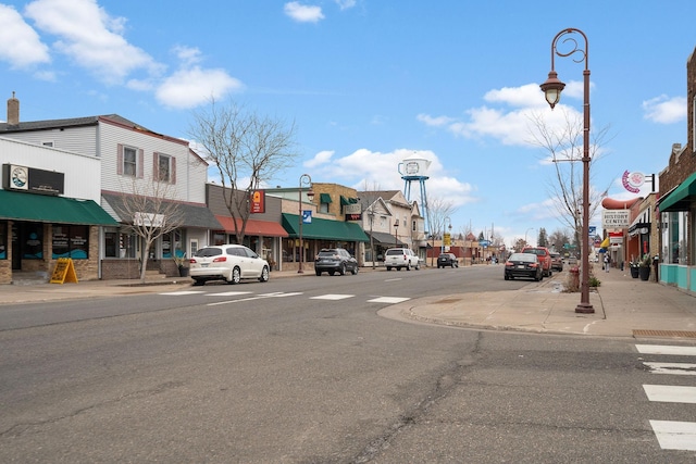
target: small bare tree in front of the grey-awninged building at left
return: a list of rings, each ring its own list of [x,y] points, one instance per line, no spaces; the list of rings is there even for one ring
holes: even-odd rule
[[[145,283],[150,248],[157,239],[170,234],[183,224],[181,204],[167,200],[174,197],[174,185],[160,179],[133,179],[122,188],[121,202],[114,204],[115,213],[126,223],[124,231],[141,239],[140,281]]]

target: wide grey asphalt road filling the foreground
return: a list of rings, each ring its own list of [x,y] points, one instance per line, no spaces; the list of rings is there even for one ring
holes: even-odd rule
[[[625,340],[380,317],[497,266],[0,306],[0,462],[694,462]],[[517,288],[517,287],[515,287]],[[172,292],[170,292],[172,293]],[[688,385],[688,379],[681,379]]]

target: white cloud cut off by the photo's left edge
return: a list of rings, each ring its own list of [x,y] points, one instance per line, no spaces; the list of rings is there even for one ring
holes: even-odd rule
[[[0,4],[0,60],[13,68],[48,63],[49,48],[12,7]]]

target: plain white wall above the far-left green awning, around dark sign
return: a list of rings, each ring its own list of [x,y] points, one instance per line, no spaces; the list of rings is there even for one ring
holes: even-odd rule
[[[0,138],[0,164],[18,164],[65,174],[63,197],[101,200],[99,173],[101,161],[54,148],[41,147],[21,140]]]

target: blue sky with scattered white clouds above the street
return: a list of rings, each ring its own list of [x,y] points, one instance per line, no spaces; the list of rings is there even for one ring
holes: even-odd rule
[[[554,112],[538,90],[556,34],[588,38],[592,127],[610,135],[593,188],[624,199],[625,171],[659,173],[686,143],[694,17],[693,0],[0,0],[0,95],[22,121],[117,113],[184,139],[191,111],[231,98],[296,125],[297,165],[271,185],[402,190],[398,163],[423,158],[452,231],[511,244],[564,227],[530,143],[530,115],[583,111],[584,63],[556,59]]]

